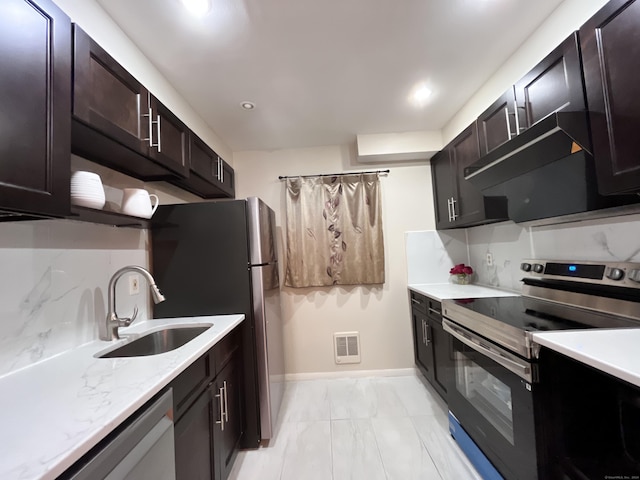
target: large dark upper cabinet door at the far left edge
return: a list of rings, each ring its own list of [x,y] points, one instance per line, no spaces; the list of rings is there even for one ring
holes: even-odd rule
[[[68,215],[69,18],[49,0],[2,0],[0,64],[0,209]]]

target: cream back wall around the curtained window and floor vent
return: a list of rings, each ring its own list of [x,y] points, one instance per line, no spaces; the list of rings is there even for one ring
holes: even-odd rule
[[[261,197],[276,211],[278,226],[283,226],[284,183],[278,180],[279,175],[363,170],[362,165],[353,163],[354,158],[354,149],[348,146],[236,152],[237,195]],[[414,365],[404,232],[434,227],[429,166],[392,166],[391,173],[381,177],[381,184],[386,282],[381,287],[284,287],[287,374]],[[284,232],[278,230],[282,247]],[[284,260],[282,254],[280,258]],[[341,331],[360,332],[360,364],[335,364],[332,335]]]

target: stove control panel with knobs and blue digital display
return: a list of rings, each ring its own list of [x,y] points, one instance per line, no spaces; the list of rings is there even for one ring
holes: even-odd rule
[[[526,272],[528,278],[534,279],[561,279],[640,289],[640,263],[524,260],[520,270]]]

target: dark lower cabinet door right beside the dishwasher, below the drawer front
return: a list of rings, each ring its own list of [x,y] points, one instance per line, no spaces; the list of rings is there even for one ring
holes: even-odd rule
[[[175,424],[177,480],[212,480],[214,478],[214,438],[216,402],[211,389],[205,390]]]

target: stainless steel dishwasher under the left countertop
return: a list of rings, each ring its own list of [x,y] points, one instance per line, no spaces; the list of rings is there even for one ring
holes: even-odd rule
[[[141,407],[60,478],[175,480],[172,390]]]

